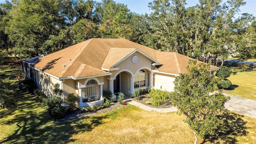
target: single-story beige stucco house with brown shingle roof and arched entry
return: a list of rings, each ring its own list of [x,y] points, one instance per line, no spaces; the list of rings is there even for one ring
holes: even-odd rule
[[[78,97],[79,107],[88,106],[84,97],[97,96],[95,104],[104,102],[103,91],[110,90],[114,100],[118,92],[132,96],[134,89],[174,90],[179,73],[187,73],[187,56],[160,52],[117,38],[92,38],[39,58],[30,68],[35,82],[46,96],[52,96],[59,83],[64,106],[69,93]],[[200,62],[200,61],[198,61]],[[210,66],[210,75],[218,70]]]

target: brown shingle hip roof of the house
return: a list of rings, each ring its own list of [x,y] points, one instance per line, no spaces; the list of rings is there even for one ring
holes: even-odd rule
[[[174,52],[159,52],[125,39],[92,38],[40,58],[34,68],[58,78],[81,78],[108,74],[102,68],[111,68],[138,49],[163,65],[156,70],[171,74],[186,73],[187,56]],[[211,66],[211,69],[218,67]]]

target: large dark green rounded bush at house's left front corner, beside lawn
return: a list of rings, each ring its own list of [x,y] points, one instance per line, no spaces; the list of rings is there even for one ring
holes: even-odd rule
[[[47,112],[52,118],[63,118],[65,116],[65,107],[62,106],[62,99],[58,96],[44,98],[44,103],[48,106]]]

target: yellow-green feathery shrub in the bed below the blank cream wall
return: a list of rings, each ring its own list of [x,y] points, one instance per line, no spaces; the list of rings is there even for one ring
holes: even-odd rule
[[[166,97],[169,97],[167,94],[168,92],[166,91],[162,91],[158,89],[151,90],[150,97],[152,98],[153,106],[159,106],[161,104],[164,104]]]

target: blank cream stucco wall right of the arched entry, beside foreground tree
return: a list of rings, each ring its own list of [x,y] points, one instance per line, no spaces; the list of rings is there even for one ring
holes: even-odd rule
[[[175,76],[171,76],[167,74],[159,74],[159,73],[154,74],[154,86],[156,89],[160,89],[162,86],[162,90],[173,92],[174,80],[175,80]]]

